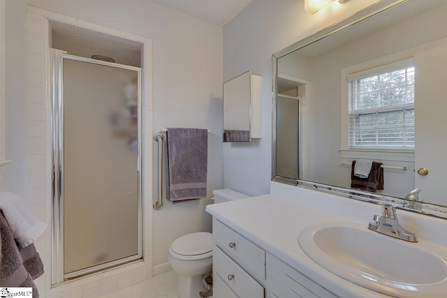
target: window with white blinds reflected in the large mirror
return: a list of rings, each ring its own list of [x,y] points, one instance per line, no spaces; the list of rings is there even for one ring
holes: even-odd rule
[[[349,149],[414,149],[413,59],[347,76]]]

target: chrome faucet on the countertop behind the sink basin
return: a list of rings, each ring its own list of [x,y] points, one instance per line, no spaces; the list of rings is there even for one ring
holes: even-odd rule
[[[397,220],[396,209],[390,204],[382,205],[382,214],[374,215],[374,221],[369,223],[368,228],[397,239],[410,242],[418,241],[416,234],[402,228],[402,225]]]

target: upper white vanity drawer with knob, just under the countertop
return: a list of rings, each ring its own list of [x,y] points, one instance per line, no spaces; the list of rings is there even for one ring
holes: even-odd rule
[[[213,221],[212,233],[215,244],[230,258],[244,267],[244,269],[265,279],[265,251],[262,248],[259,248],[215,219]]]

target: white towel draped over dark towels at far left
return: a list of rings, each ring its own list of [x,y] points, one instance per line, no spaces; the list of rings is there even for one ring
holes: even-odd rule
[[[14,239],[20,248],[32,244],[47,228],[46,223],[39,221],[32,214],[27,201],[20,195],[1,191],[0,209],[3,211]]]

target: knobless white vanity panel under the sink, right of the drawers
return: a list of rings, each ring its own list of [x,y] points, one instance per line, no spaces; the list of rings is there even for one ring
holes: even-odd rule
[[[268,254],[267,267],[270,290],[279,297],[337,298],[273,255]]]

